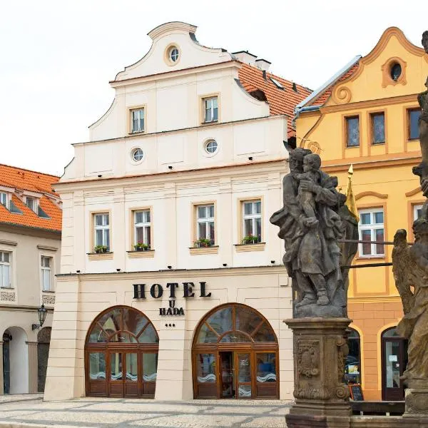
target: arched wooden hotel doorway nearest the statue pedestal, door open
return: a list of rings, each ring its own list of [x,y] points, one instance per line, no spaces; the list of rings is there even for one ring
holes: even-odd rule
[[[208,312],[192,347],[195,398],[278,398],[278,343],[269,322],[238,303]]]

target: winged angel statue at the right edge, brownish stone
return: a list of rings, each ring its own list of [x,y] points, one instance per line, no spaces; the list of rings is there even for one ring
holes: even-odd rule
[[[402,298],[404,317],[397,326],[400,336],[409,340],[409,362],[402,375],[409,388],[428,389],[428,220],[413,223],[415,243],[407,244],[406,231],[397,230],[392,250],[392,271]]]

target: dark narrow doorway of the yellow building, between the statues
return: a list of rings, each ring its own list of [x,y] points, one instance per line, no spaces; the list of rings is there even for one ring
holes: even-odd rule
[[[400,377],[407,366],[407,339],[395,327],[382,332],[382,399],[404,400],[404,384]]]

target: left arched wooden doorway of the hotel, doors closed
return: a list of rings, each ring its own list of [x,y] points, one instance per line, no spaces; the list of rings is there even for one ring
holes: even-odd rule
[[[86,395],[153,398],[159,338],[148,317],[133,307],[101,312],[86,335]]]

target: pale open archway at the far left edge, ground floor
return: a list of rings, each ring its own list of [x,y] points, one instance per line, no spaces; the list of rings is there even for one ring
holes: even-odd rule
[[[21,327],[9,327],[3,334],[4,394],[29,392],[29,352],[26,332]]]

